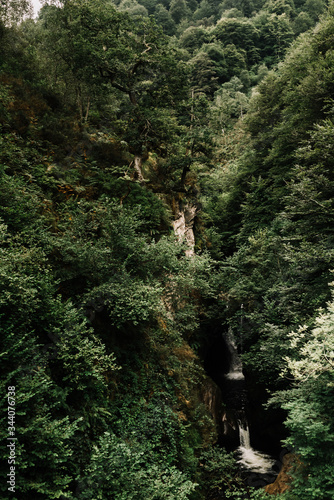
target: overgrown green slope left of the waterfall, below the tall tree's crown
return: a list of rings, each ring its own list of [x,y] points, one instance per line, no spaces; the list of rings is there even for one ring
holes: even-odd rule
[[[8,95],[4,91],[2,101],[10,127]],[[199,396],[190,407],[185,403],[199,393],[204,374],[183,337],[198,327],[199,297],[212,293],[211,263],[189,260],[184,246],[168,237],[164,203],[127,174],[122,162],[133,156],[118,138],[77,132],[76,151],[53,163],[51,151],[43,154],[38,121],[29,134],[34,139],[8,132],[1,150],[8,226],[1,259],[2,383],[4,393],[10,384],[18,391],[17,494],[81,498],[85,484],[89,498],[103,498],[112,480],[121,485],[115,495],[124,494],[125,481],[129,495],[161,498],[168,491],[188,498],[195,453],[203,439],[211,442],[214,429]],[[111,167],[110,159],[119,166]],[[119,373],[113,351],[122,362]],[[129,390],[139,412],[136,442],[127,448],[135,431],[133,414],[123,411]],[[165,394],[160,403],[149,402],[154,391]],[[196,422],[191,432],[187,419]],[[117,469],[117,480],[95,471],[93,447],[104,433],[130,452],[134,482],[128,465]],[[112,452],[110,463],[118,462]],[[91,476],[98,481],[93,490]]]

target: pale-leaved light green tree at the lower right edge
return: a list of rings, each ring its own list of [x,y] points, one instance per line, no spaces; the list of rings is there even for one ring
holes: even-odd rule
[[[291,434],[286,443],[302,463],[295,471],[291,498],[298,494],[306,499],[325,499],[334,491],[333,315],[330,302],[316,317],[312,329],[300,327],[289,335],[291,355],[286,358],[285,372],[295,384],[274,398],[288,412],[285,424]]]

